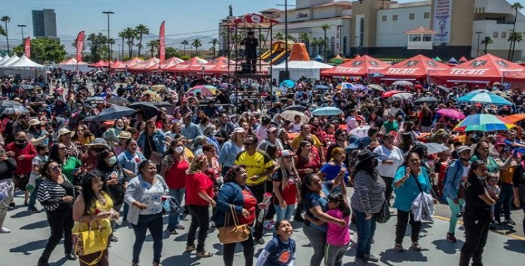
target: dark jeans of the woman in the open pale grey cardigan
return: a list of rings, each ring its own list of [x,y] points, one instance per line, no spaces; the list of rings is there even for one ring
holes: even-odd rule
[[[142,245],[146,240],[146,230],[150,230],[153,238],[153,262],[160,263],[162,253],[162,213],[140,215],[137,225],[133,225],[135,243],[133,244],[133,262],[139,263]]]

